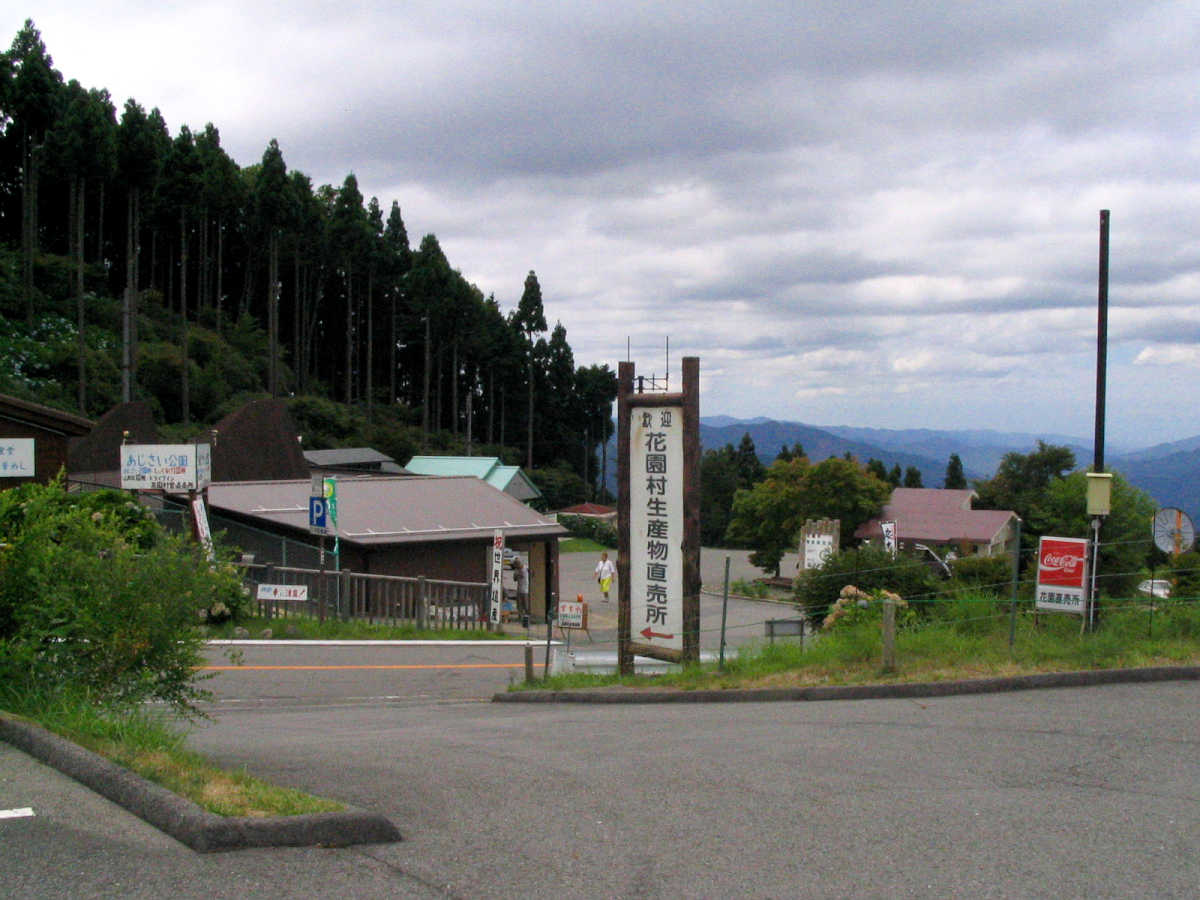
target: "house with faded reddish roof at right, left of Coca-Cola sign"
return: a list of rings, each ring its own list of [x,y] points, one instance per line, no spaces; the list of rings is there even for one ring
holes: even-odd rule
[[[859,540],[882,541],[881,522],[896,523],[896,540],[953,548],[970,556],[992,557],[1013,552],[1016,514],[1012,510],[972,509],[974,491],[898,487],[877,518],[854,532]]]

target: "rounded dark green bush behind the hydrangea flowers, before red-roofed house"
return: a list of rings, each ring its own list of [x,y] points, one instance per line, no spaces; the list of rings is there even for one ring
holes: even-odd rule
[[[910,604],[930,601],[941,587],[924,563],[904,556],[893,559],[878,547],[854,547],[803,572],[796,581],[796,601],[811,622],[820,623],[847,584],[865,593],[890,590]]]

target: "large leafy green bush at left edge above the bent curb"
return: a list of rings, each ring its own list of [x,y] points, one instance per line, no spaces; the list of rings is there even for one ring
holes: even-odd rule
[[[101,703],[193,712],[204,611],[244,593],[229,564],[166,533],[125,494],[61,484],[0,496],[0,684],[85,686]]]

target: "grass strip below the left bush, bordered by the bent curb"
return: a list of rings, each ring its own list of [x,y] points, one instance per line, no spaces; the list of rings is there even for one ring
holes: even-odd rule
[[[245,769],[214,766],[187,750],[186,736],[144,707],[103,709],[84,695],[0,696],[6,709],[187,798],[220,816],[337,812],[341,803],[278,787]]]

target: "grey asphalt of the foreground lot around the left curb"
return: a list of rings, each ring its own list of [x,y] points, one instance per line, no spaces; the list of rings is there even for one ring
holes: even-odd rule
[[[222,709],[193,745],[406,840],[198,856],[0,745],[0,894],[1190,898],[1200,685]]]

